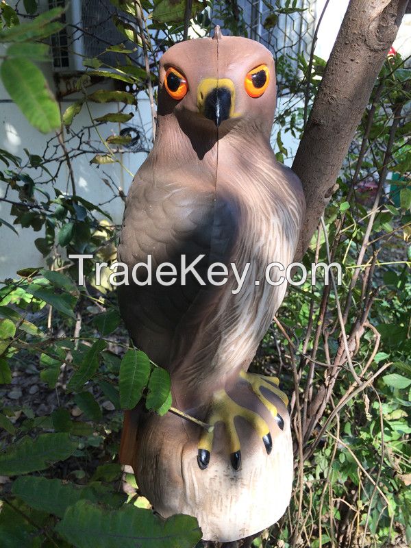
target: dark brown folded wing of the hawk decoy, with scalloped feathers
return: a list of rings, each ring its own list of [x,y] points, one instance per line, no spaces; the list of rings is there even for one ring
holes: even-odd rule
[[[202,310],[198,297],[204,288],[194,275],[187,276],[185,286],[179,281],[162,286],[155,279],[155,269],[158,264],[169,262],[180,273],[182,255],[186,256],[186,264],[204,255],[196,270],[207,280],[210,257],[225,262],[229,242],[234,238],[234,230],[229,226],[233,221],[229,214],[220,215],[224,226],[214,226],[213,188],[158,181],[152,184],[140,177],[138,173],[127,197],[119,260],[129,266],[131,273],[134,264],[147,262],[151,255],[153,279],[147,286],[119,286],[119,305],[135,345],[170,370],[175,360],[173,354],[184,351],[181,344],[177,344],[179,350],[175,348],[175,332],[184,325],[195,301]],[[141,280],[147,277],[145,269],[137,272]],[[190,337],[195,337],[195,333],[187,325],[184,338]]]

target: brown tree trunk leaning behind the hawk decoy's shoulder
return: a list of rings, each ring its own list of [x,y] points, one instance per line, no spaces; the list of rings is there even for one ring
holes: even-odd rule
[[[351,0],[292,169],[307,211],[296,260],[306,252],[332,193],[408,0]]]

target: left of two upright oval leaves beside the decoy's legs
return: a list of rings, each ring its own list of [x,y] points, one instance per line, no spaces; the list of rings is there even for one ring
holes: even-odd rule
[[[130,349],[120,365],[120,404],[123,409],[133,409],[149,382],[150,360],[146,353]]]

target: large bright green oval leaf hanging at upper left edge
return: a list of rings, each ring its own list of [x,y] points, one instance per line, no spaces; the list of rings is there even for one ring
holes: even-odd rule
[[[23,58],[6,59],[0,73],[5,89],[29,123],[42,133],[60,128],[58,103],[35,64]]]

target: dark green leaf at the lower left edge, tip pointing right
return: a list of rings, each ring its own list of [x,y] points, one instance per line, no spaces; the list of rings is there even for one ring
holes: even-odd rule
[[[0,474],[18,475],[44,470],[53,462],[66,460],[77,449],[69,434],[40,434],[23,438],[0,454]]]

